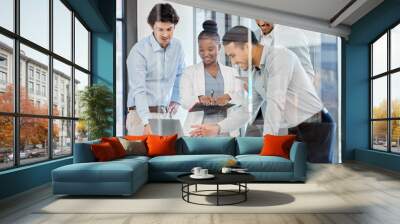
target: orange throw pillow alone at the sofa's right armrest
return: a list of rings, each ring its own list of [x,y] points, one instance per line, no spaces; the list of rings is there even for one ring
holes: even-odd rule
[[[262,156],[280,156],[289,159],[290,148],[296,138],[296,135],[265,135],[264,145],[261,149]]]

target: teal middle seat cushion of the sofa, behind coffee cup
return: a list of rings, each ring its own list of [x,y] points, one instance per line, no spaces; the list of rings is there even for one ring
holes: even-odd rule
[[[158,156],[149,160],[150,172],[190,172],[193,167],[200,166],[212,172],[219,171],[230,159],[231,155],[174,155]]]

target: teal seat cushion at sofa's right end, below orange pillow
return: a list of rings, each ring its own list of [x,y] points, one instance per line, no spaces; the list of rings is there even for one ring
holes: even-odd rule
[[[278,156],[239,155],[236,160],[249,172],[293,172],[292,161]]]

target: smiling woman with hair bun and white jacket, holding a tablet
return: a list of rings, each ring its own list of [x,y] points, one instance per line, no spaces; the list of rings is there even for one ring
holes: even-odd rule
[[[207,106],[223,106],[228,103],[240,105],[242,102],[242,84],[238,73],[232,67],[218,62],[221,47],[217,23],[207,20],[203,31],[198,36],[199,55],[202,62],[189,66],[183,72],[180,82],[181,105],[190,110],[196,103]],[[216,123],[220,126],[222,136],[237,136],[238,130],[231,130],[224,120],[227,113],[205,114],[204,111],[189,112],[184,124],[185,135],[197,136],[192,130],[201,124]]]

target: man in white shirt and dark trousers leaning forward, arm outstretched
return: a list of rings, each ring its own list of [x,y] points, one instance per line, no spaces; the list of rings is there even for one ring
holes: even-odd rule
[[[281,129],[289,129],[307,144],[308,161],[331,162],[335,124],[298,57],[287,48],[259,44],[254,32],[244,26],[230,29],[223,45],[232,64],[253,70],[258,95],[254,98],[266,102],[263,134],[278,135]],[[219,131],[218,124],[204,124],[195,134],[207,136]]]

